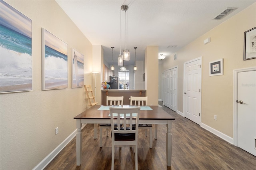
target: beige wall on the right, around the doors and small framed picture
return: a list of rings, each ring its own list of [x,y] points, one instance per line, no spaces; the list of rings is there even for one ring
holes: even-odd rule
[[[178,65],[178,111],[183,112],[183,63],[202,56],[202,123],[233,138],[233,70],[256,66],[256,59],[243,60],[244,32],[255,26],[256,3],[177,51],[176,61],[166,58],[164,69]],[[204,45],[206,38],[211,42]],[[210,77],[209,62],[221,58],[224,75]]]

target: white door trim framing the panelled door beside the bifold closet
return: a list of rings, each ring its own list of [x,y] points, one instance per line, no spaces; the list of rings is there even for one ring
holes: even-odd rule
[[[201,123],[202,123],[202,56],[200,56],[200,57],[198,57],[198,58],[195,58],[195,59],[192,59],[192,60],[190,60],[190,61],[186,61],[186,62],[184,62],[183,63],[183,111],[185,111],[185,94],[184,94],[184,92],[185,92],[185,65],[186,64],[188,64],[188,63],[191,63],[191,62],[194,62],[194,61],[197,61],[197,60],[200,60],[200,65],[201,65],[201,73],[200,73],[200,81],[201,81],[201,83],[200,83],[200,89],[201,89],[201,93],[200,93],[200,110],[199,110],[199,112],[200,112],[200,123],[199,123],[199,125],[201,125]],[[185,117],[185,113],[183,113],[184,114],[184,117]]]

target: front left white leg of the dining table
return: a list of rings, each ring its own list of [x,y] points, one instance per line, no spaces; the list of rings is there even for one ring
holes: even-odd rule
[[[82,123],[80,119],[76,119],[76,128],[77,128],[77,134],[76,134],[76,165],[81,165],[81,159],[82,159]]]

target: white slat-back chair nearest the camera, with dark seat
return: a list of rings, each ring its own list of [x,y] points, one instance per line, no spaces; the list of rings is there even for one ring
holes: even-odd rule
[[[114,170],[115,146],[134,146],[135,169],[138,170],[138,123],[140,107],[110,107],[111,132],[112,132],[112,162]],[[135,121],[135,127],[133,127]],[[117,126],[115,126],[115,124]],[[120,126],[123,124],[123,127]]]

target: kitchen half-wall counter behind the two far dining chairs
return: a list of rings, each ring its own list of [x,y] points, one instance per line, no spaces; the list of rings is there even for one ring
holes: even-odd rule
[[[101,105],[106,105],[107,96],[124,96],[123,105],[130,105],[131,96],[146,96],[146,90],[134,89],[102,89],[101,90]]]

